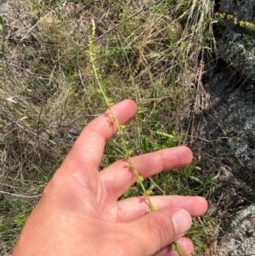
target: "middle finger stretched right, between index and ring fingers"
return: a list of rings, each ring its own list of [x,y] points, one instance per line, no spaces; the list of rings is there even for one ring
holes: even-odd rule
[[[181,168],[192,161],[192,152],[186,146],[178,146],[162,151],[132,157],[139,175],[147,178],[151,175],[161,173],[163,170]],[[124,191],[133,185],[136,180],[133,170],[126,168],[127,160],[120,160],[105,168],[100,173],[101,179],[109,195],[122,196]]]

